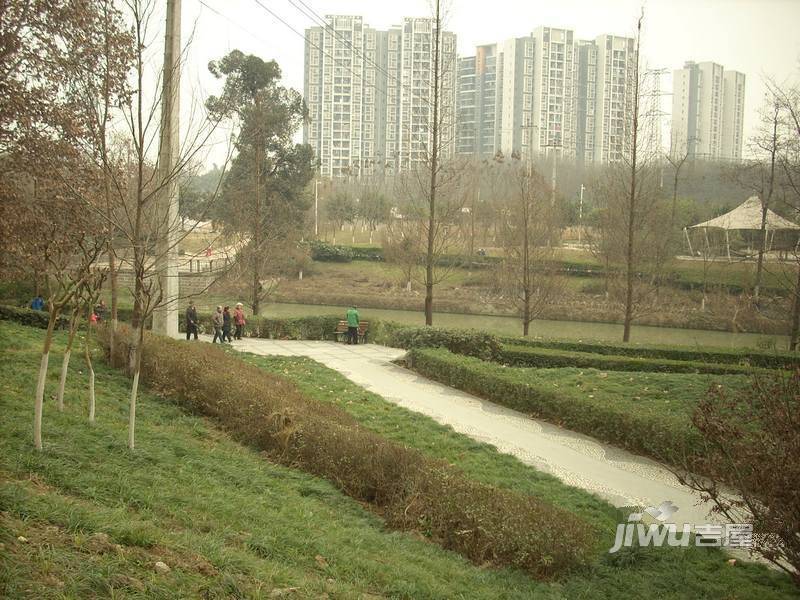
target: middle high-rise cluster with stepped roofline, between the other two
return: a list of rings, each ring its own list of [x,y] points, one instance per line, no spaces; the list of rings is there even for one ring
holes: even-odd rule
[[[632,38],[575,40],[570,29],[539,27],[529,36],[479,46],[459,65],[459,153],[555,153],[581,162],[624,156]]]

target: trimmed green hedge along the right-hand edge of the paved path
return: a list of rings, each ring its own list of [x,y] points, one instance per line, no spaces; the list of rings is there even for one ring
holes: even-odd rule
[[[408,359],[426,377],[658,460],[677,464],[701,448],[700,435],[686,414],[665,410],[656,419],[572,390],[537,385],[527,369],[442,349],[412,350]]]

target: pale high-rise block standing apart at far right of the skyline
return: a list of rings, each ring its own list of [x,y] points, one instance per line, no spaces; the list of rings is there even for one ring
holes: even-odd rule
[[[690,61],[673,72],[672,93],[670,151],[674,155],[712,160],[741,158],[743,74],[725,71],[714,62]]]

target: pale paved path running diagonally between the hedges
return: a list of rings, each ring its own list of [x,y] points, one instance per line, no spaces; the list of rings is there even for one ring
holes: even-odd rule
[[[245,339],[234,348],[263,355],[307,356],[335,369],[386,400],[428,415],[459,433],[595,493],[616,506],[679,507],[677,523],[715,523],[709,506],[681,486],[659,463],[561,429],[470,394],[433,382],[391,363],[405,351],[375,344]]]

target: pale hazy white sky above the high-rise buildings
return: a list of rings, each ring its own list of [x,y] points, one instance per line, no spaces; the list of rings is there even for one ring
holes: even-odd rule
[[[405,16],[432,13],[429,0],[183,0],[183,41],[191,40],[181,85],[184,129],[192,115],[197,118],[204,98],[221,89],[208,62],[234,49],[276,60],[283,84],[302,92],[302,33],[316,24],[296,8],[304,8],[303,3],[323,17],[360,15],[378,29]],[[668,70],[662,80],[666,94],[671,71],[687,60],[713,61],[745,73],[746,139],[757,129],[764,79],[800,79],[800,0],[443,0],[443,6],[445,27],[457,35],[460,56],[473,55],[480,44],[528,35],[540,25],[574,29],[578,39],[603,33],[633,36],[644,9],[643,56],[648,66]],[[666,94],[662,105],[669,111]],[[227,132],[216,136],[202,159],[207,166],[224,160],[226,138]]]

